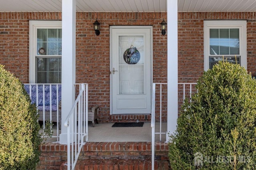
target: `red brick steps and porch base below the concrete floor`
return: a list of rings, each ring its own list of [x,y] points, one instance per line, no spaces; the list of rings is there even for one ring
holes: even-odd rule
[[[37,170],[66,170],[67,145],[44,143],[40,150]],[[151,170],[151,153],[151,142],[87,142],[76,170]],[[168,164],[168,144],[156,142],[154,169],[168,170]]]

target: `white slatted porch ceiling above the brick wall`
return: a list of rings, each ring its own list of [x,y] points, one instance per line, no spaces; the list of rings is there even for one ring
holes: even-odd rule
[[[77,0],[77,12],[166,12],[167,0]],[[0,12],[59,12],[62,0],[0,0]],[[179,12],[256,12],[256,0],[178,0]]]

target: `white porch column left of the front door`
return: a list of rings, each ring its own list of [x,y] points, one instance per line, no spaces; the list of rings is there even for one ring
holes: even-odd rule
[[[74,103],[76,82],[76,0],[62,0],[62,92],[60,143],[67,143],[64,121]]]

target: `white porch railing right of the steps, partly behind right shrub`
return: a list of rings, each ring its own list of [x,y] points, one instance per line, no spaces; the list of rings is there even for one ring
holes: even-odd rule
[[[152,128],[152,170],[154,170],[154,160],[155,160],[155,135],[160,134],[160,141],[161,135],[165,134],[166,132],[162,132],[162,85],[167,83],[153,83],[152,85],[152,107],[151,107],[151,128]],[[159,93],[160,93],[160,132],[155,131],[155,119],[156,119],[156,85],[159,86]],[[178,83],[178,96],[182,96],[182,101],[185,100],[186,97],[189,96],[191,102],[191,96],[195,92],[195,85],[196,83]],[[177,113],[178,114],[178,113]]]

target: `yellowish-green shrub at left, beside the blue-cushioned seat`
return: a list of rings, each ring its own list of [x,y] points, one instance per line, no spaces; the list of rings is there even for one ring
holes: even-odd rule
[[[22,83],[0,65],[0,170],[33,170],[39,161],[36,106]]]

